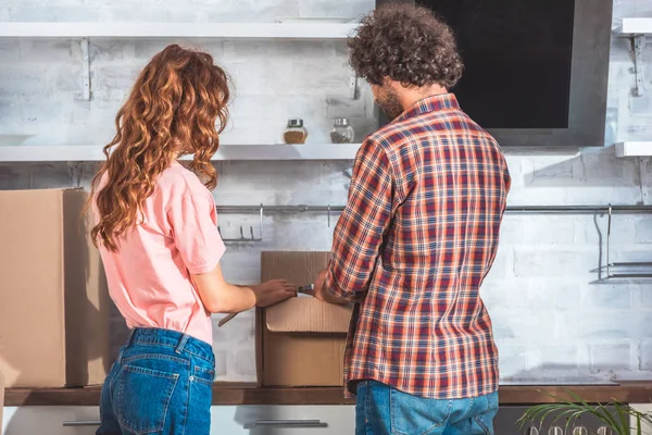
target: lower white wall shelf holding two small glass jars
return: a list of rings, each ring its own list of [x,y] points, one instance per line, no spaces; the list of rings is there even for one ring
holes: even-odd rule
[[[223,145],[213,161],[220,160],[353,160],[360,144]],[[1,162],[101,162],[102,146],[14,146],[0,147]]]

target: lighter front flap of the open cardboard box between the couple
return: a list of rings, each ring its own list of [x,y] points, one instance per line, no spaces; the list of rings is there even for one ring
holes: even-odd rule
[[[349,331],[352,307],[312,297],[288,299],[266,309],[267,330],[275,333],[340,333]]]

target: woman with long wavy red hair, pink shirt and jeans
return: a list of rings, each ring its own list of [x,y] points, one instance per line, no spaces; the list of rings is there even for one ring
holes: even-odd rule
[[[240,287],[222,275],[211,158],[228,99],[227,75],[210,54],[173,45],[117,112],[89,204],[109,291],[131,335],[102,388],[98,434],[209,434],[211,313],[296,296],[284,281]],[[192,156],[189,169],[183,156]]]

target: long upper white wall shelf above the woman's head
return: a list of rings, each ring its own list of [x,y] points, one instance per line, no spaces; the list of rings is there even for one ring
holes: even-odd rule
[[[343,39],[356,23],[0,23],[3,38]]]

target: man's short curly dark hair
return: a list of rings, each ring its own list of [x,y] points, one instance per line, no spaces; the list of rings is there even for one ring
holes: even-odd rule
[[[359,77],[381,85],[453,87],[464,70],[451,28],[426,8],[387,4],[361,22],[349,39],[350,63]]]

